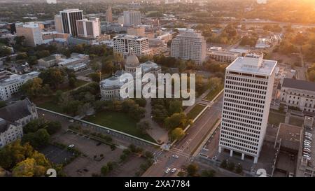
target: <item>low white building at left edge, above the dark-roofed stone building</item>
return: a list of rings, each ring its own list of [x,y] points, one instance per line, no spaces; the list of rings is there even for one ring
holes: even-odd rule
[[[36,78],[39,72],[32,71],[23,75],[11,73],[9,71],[0,72],[0,99],[7,100],[20,91],[20,87],[27,82],[27,80]]]

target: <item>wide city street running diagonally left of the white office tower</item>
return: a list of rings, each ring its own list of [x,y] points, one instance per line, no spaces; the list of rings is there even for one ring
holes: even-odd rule
[[[184,165],[193,160],[193,153],[200,146],[204,137],[207,136],[209,129],[213,127],[218,118],[221,117],[223,102],[223,94],[216,99],[216,101],[207,108],[200,118],[190,127],[186,136],[181,141],[174,144],[169,151],[163,151],[157,155],[157,162],[153,164],[143,176],[157,177],[157,176],[176,176],[176,173],[165,173],[167,168],[181,169]],[[178,158],[173,157],[177,155]]]

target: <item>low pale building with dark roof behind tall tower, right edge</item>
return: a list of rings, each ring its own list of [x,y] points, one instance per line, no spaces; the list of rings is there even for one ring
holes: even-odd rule
[[[315,83],[284,78],[280,102],[286,106],[297,107],[301,111],[315,113]]]

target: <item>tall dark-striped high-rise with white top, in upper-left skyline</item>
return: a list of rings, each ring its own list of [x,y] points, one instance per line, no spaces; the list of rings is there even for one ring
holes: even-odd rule
[[[78,10],[78,8],[65,9],[60,11],[60,15],[62,17],[63,33],[78,36],[76,21],[83,19],[83,10]]]

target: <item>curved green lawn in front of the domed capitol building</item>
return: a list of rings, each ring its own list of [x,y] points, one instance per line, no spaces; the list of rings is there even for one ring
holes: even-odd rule
[[[116,129],[120,132],[125,132],[155,143],[155,140],[151,136],[148,134],[142,134],[136,127],[137,122],[125,113],[102,111],[96,115],[86,117],[83,120],[97,125],[102,125],[104,127],[109,127],[111,129]]]

